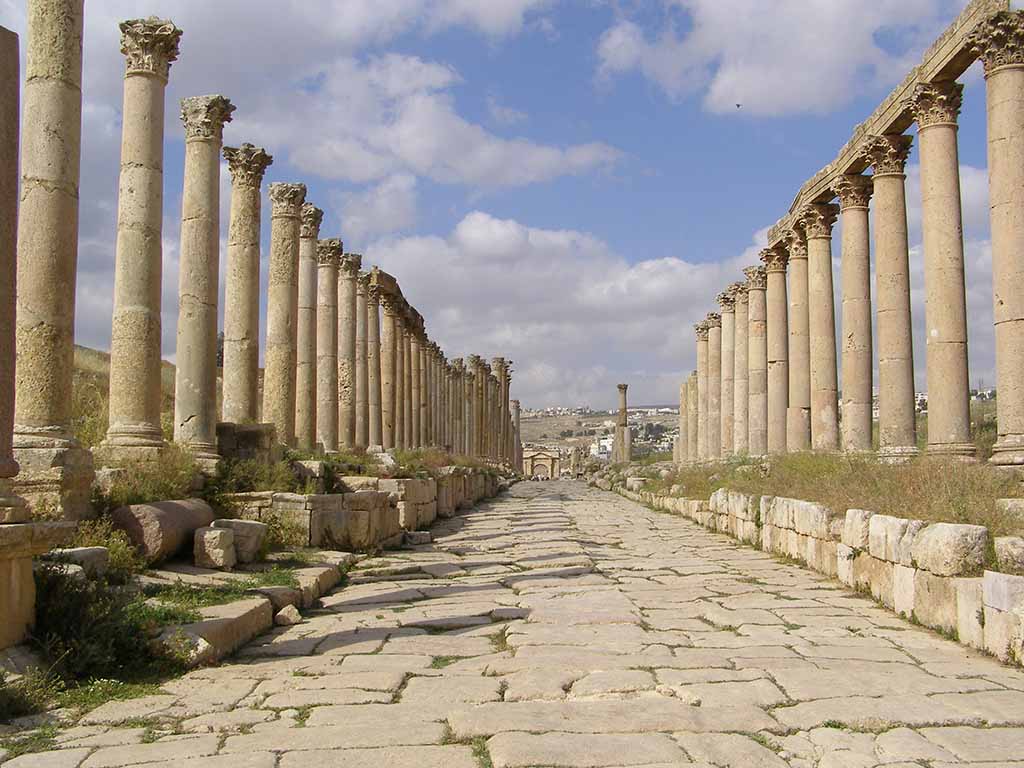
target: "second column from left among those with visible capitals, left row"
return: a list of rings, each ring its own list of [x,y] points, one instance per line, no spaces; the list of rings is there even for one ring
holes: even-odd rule
[[[174,367],[174,441],[200,462],[217,457],[217,302],[220,289],[220,147],[234,105],[223,96],[181,100],[184,191]]]

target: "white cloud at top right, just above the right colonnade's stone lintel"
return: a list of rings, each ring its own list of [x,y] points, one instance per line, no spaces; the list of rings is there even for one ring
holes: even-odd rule
[[[865,86],[898,80],[965,4],[666,0],[659,29],[621,18],[602,35],[598,77],[638,72],[673,99],[703,91],[717,113],[738,103],[754,115],[822,114]]]

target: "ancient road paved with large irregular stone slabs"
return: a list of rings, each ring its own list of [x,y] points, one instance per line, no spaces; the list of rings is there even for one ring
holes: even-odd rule
[[[1024,767],[1021,671],[580,483],[366,565],[233,664],[4,768]]]

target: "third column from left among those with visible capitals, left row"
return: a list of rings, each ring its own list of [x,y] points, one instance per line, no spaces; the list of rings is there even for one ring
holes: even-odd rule
[[[253,424],[259,418],[260,185],[273,158],[245,143],[225,146],[231,173],[231,213],[224,270],[222,419]]]

